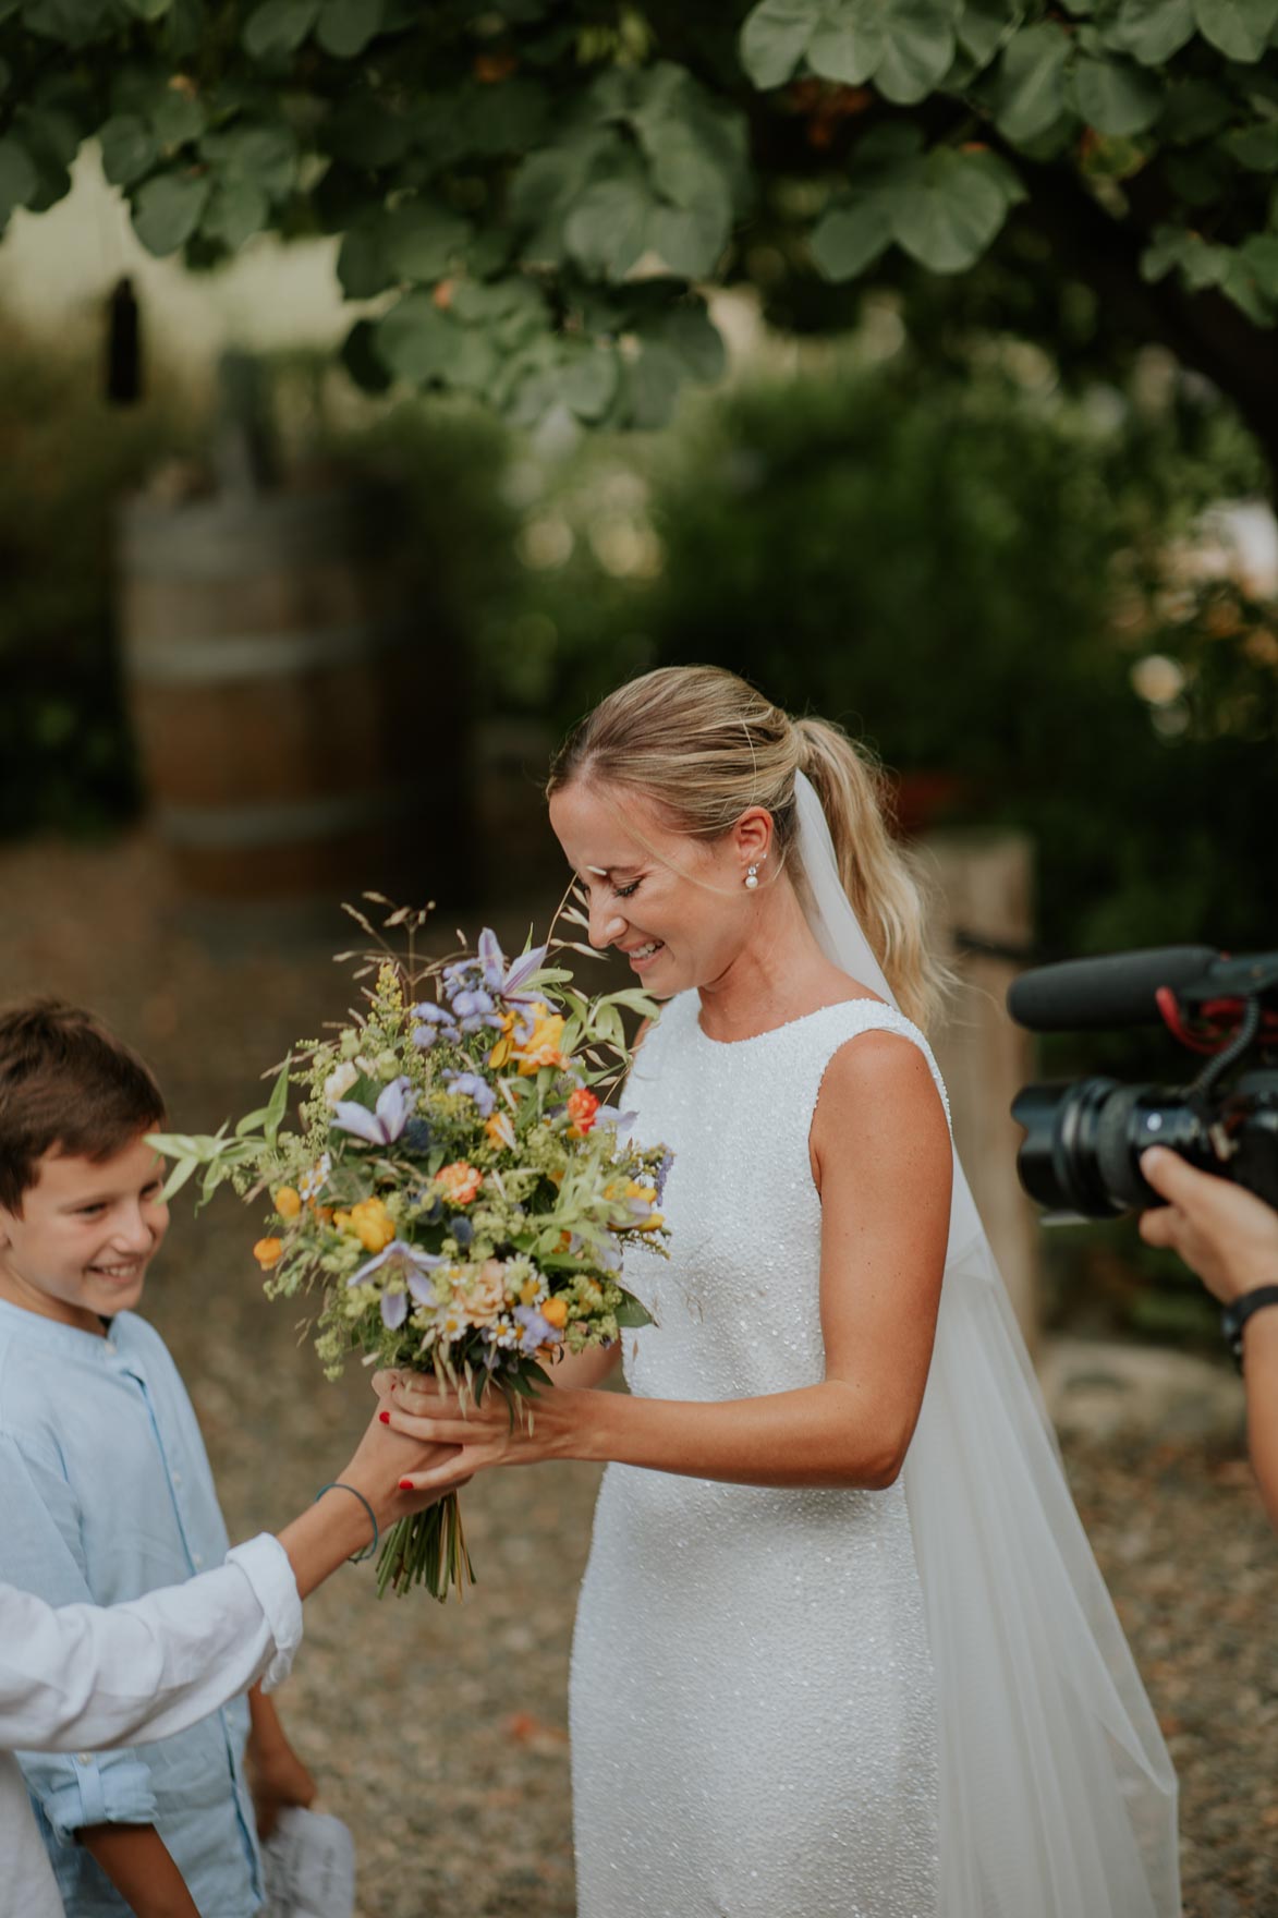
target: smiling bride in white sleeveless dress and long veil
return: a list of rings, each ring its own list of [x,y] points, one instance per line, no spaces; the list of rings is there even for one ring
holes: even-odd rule
[[[942,976],[835,727],[649,673],[551,821],[668,1001],[654,1325],[533,1429],[386,1373],[418,1475],[608,1463],[572,1657],[581,1918],[1174,1918],[1174,1776],[1073,1509],[921,1026]]]

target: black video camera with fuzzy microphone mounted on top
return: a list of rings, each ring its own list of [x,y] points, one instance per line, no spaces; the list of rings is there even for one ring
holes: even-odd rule
[[[1030,1199],[1082,1218],[1163,1205],[1140,1155],[1167,1145],[1278,1210],[1278,953],[1230,959],[1211,946],[1163,946],[1071,959],[1023,972],[1007,1011],[1029,1032],[1163,1024],[1207,1055],[1188,1086],[1092,1076],[1019,1091],[1017,1172]]]

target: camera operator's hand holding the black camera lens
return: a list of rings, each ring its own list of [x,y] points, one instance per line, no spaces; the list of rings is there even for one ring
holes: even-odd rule
[[[1146,1245],[1180,1252],[1220,1304],[1257,1285],[1278,1285],[1278,1212],[1243,1185],[1197,1172],[1165,1145],[1140,1155],[1165,1206],[1140,1214]],[[1272,1310],[1272,1308],[1270,1308]]]

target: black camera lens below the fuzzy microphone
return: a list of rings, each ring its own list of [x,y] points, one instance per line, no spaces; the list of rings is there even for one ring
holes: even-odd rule
[[[1073,1086],[1027,1086],[1011,1105],[1025,1126],[1017,1172],[1030,1199],[1053,1212],[1117,1218],[1161,1205],[1140,1176],[1140,1155],[1167,1145],[1194,1166],[1219,1170],[1207,1126],[1184,1093],[1084,1078]]]

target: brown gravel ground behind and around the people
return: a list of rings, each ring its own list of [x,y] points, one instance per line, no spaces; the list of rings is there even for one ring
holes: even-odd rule
[[[182,1130],[255,1103],[255,1074],[345,1005],[338,919],[322,946],[211,949],[146,838],[10,848],[0,898],[0,997],[94,1005],[152,1059]],[[368,1404],[363,1377],[324,1385],[263,1300],[253,1237],[226,1195],[200,1220],[178,1201],[148,1295],[240,1536],[311,1498]],[[1186,1912],[1278,1918],[1278,1550],[1240,1450],[1073,1440],[1067,1463],[1180,1772]],[[355,1832],[361,1918],[570,1918],[564,1690],[595,1485],[578,1465],[476,1483],[464,1607],[378,1609],[357,1571],[309,1603],[280,1711]]]

